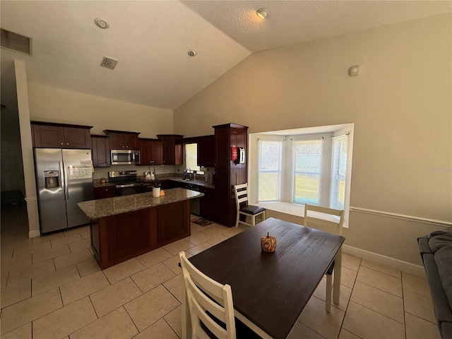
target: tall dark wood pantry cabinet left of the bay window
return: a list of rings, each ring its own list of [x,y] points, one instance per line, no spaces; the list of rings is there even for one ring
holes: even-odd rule
[[[215,215],[218,222],[234,226],[236,206],[234,185],[246,182],[248,127],[237,124],[213,126],[215,129]],[[244,163],[232,161],[232,146],[243,148]]]

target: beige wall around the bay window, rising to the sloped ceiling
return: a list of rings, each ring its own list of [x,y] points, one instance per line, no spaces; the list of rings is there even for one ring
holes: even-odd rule
[[[174,110],[174,132],[355,123],[346,244],[420,264],[416,238],[452,222],[451,21],[446,13],[251,54]],[[348,76],[356,64],[361,74]]]

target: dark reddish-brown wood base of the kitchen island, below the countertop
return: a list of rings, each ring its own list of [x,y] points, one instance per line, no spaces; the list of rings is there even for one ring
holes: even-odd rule
[[[91,220],[91,248],[102,269],[189,235],[189,200]]]

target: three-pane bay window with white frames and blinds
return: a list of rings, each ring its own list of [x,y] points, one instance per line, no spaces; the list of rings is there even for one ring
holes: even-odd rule
[[[353,128],[343,124],[250,135],[252,201],[295,215],[306,203],[343,209],[347,227]]]

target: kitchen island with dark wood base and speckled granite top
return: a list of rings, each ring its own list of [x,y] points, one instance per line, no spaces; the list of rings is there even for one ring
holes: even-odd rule
[[[91,248],[105,269],[190,235],[190,199],[201,192],[166,189],[83,201],[78,206],[91,220]]]

